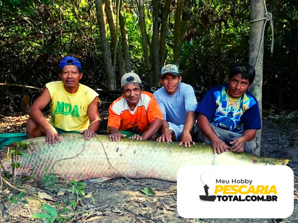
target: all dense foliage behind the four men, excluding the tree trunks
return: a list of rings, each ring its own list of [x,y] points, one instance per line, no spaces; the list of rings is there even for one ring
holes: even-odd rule
[[[229,65],[248,61],[249,1],[189,0],[187,32],[181,50],[182,80],[196,90],[223,84]],[[147,6],[150,4],[148,1]],[[267,0],[273,14],[274,53],[270,53],[271,27],[264,41],[263,104],[297,109],[298,85],[298,13],[297,0]],[[168,19],[167,63],[173,60],[173,12]],[[146,9],[145,9],[146,11]],[[142,55],[136,3],[123,1],[122,12],[128,29],[132,69],[142,76],[145,88],[148,71]],[[152,8],[146,14],[151,39]],[[268,23],[267,23],[268,24]],[[120,36],[120,35],[119,35]],[[110,38],[110,37],[109,37]],[[82,61],[82,83],[106,88],[105,71],[92,0],[0,0],[0,83],[24,84],[43,88],[58,78],[58,62],[73,55]],[[121,43],[120,43],[121,44]],[[113,47],[110,47],[111,49]],[[113,54],[113,49],[111,50]],[[117,72],[117,70],[116,70]],[[119,86],[119,77],[117,77]],[[4,87],[2,109],[17,110],[22,94],[33,90]],[[1,112],[1,111],[0,111]]]

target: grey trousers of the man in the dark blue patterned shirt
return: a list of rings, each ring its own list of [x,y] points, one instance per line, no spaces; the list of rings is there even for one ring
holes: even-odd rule
[[[242,134],[231,132],[222,128],[218,128],[211,125],[214,133],[223,142],[232,142],[234,139],[240,138]],[[195,127],[195,137],[199,142],[205,142],[206,144],[211,144],[211,141],[203,134],[198,125]],[[259,145],[257,144],[257,139],[254,138],[249,142],[244,143],[244,152],[255,154]]]

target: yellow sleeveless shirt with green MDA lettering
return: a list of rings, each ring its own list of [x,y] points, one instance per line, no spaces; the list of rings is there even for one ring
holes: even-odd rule
[[[68,93],[62,81],[46,84],[51,95],[50,123],[64,131],[81,131],[89,127],[88,106],[98,96],[91,88],[79,84],[76,93]]]

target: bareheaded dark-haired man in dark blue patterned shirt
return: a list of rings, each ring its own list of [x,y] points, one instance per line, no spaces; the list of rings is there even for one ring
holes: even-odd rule
[[[213,153],[255,153],[257,129],[261,128],[257,99],[247,90],[255,70],[247,63],[235,64],[229,84],[210,89],[195,113],[198,114],[198,140],[212,144]]]

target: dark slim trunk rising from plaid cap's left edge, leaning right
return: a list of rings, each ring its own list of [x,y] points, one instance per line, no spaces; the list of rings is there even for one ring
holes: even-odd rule
[[[160,44],[159,44],[159,55],[160,55],[160,69],[164,66],[165,60],[166,60],[166,40],[167,40],[167,18],[170,13],[170,6],[171,6],[171,0],[165,0],[164,3],[164,9],[162,12],[162,26],[160,29]]]

